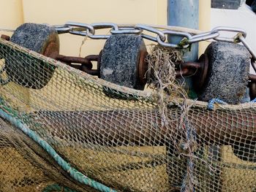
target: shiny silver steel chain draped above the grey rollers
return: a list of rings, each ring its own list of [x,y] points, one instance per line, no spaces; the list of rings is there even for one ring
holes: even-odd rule
[[[252,50],[252,48],[246,42],[246,31],[241,28],[233,28],[233,27],[217,27],[212,29],[211,31],[203,32],[202,34],[189,34],[188,32],[180,32],[180,31],[172,31],[172,30],[159,30],[154,26],[148,25],[122,25],[118,27],[115,23],[75,23],[68,22],[61,26],[54,26],[56,31],[59,34],[69,33],[80,36],[86,36],[91,39],[108,39],[111,34],[137,34],[141,35],[144,39],[148,39],[152,42],[157,42],[158,45],[163,47],[179,47],[179,48],[187,48],[189,45],[197,42],[202,42],[206,40],[213,39],[219,42],[232,42],[238,43],[241,42],[246,49],[252,55],[252,63],[256,61],[256,53]],[[97,29],[110,28],[110,34],[96,34]],[[146,32],[149,32],[153,35],[149,35]],[[236,35],[232,38],[220,36],[221,32],[226,33],[236,33]],[[181,42],[179,44],[173,44],[167,42],[167,35],[175,35],[181,37]],[[255,66],[256,72],[256,66]]]

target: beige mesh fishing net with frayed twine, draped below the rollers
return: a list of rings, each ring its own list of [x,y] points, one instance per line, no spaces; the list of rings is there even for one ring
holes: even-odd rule
[[[151,58],[162,58],[157,54]],[[5,40],[0,58],[6,66],[0,86],[0,191],[96,191],[65,171],[43,149],[45,142],[69,166],[115,191],[256,190],[255,104],[208,110],[207,103],[186,99],[170,77],[160,78],[153,91],[136,91]],[[168,59],[163,61],[170,61],[172,72]],[[47,85],[31,88],[49,74]]]

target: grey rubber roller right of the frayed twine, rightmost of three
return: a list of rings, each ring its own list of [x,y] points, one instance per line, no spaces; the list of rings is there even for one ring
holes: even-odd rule
[[[229,42],[211,42],[208,56],[208,74],[198,98],[209,101],[222,99],[229,104],[239,104],[249,81],[250,54],[246,47]]]

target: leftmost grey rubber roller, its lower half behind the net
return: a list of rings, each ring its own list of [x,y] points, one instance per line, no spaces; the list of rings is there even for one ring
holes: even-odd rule
[[[24,23],[14,31],[10,42],[46,56],[59,53],[59,35],[48,25]],[[10,80],[27,88],[43,88],[54,71],[54,66],[22,53],[7,55],[6,58],[6,72]]]

